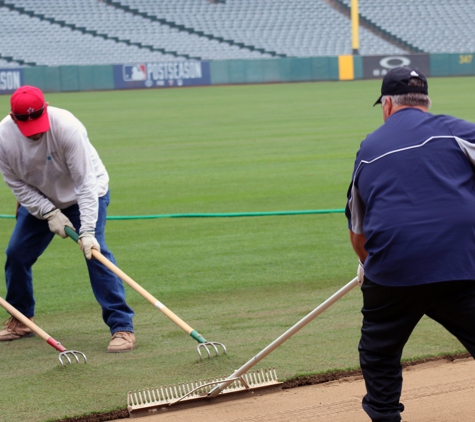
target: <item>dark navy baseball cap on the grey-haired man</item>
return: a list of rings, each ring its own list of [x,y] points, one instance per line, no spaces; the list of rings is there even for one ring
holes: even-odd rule
[[[409,86],[409,79],[418,78],[424,82],[423,86]],[[381,104],[381,98],[384,95],[401,95],[409,94],[411,92],[420,92],[422,94],[429,94],[426,77],[418,70],[412,69],[409,66],[400,66],[391,69],[383,78],[381,85],[381,96],[373,104]]]

